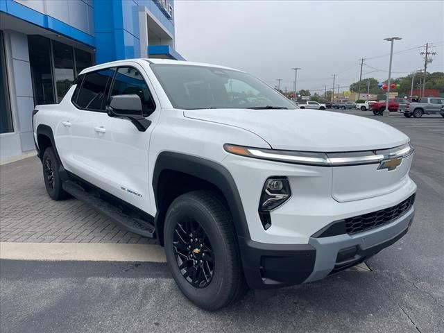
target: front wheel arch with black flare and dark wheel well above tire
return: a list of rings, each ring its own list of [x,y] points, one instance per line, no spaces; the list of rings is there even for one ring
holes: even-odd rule
[[[250,238],[239,191],[230,172],[221,164],[182,153],[162,152],[153,171],[153,191],[157,214],[155,230],[163,246],[164,219],[171,202],[188,191],[211,189],[223,196],[233,218],[238,237]]]

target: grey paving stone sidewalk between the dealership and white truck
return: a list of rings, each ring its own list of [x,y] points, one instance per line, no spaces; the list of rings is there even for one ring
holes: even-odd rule
[[[51,200],[35,156],[0,166],[0,241],[155,244],[79,200]]]

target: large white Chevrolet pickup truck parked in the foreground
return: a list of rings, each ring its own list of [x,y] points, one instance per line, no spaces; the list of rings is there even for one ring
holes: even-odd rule
[[[203,309],[246,287],[264,296],[354,266],[413,221],[406,135],[300,110],[236,69],[154,59],[91,67],[60,104],[35,107],[33,128],[49,196],[70,194],[157,239],[178,287]]]

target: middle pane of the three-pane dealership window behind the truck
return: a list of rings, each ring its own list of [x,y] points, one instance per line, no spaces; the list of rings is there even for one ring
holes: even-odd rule
[[[54,78],[57,101],[60,103],[74,81],[74,60],[72,46],[53,40]]]

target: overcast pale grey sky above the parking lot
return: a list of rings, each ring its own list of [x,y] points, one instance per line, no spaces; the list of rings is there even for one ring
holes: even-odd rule
[[[392,76],[421,69],[421,45],[438,53],[430,71],[444,71],[444,1],[191,1],[175,0],[176,50],[189,61],[248,71],[271,85],[341,90],[363,78],[386,80],[390,43]],[[406,51],[404,51],[406,50]],[[377,57],[377,58],[374,58]],[[373,68],[372,68],[373,67]],[[427,71],[429,71],[427,70]],[[396,73],[398,72],[398,73]]]

